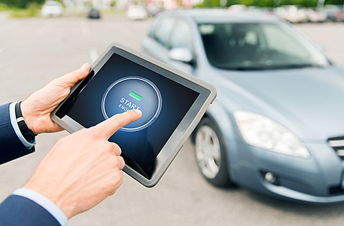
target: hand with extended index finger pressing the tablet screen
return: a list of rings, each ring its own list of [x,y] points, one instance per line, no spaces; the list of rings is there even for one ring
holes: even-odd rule
[[[49,198],[67,218],[91,209],[114,194],[123,180],[120,147],[107,140],[141,115],[140,110],[116,114],[61,138],[24,187]]]

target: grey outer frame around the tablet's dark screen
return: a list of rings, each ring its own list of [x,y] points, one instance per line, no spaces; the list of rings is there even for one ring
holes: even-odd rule
[[[173,131],[168,141],[166,141],[165,145],[162,147],[162,150],[160,150],[158,156],[156,156],[155,159],[159,161],[156,165],[155,172],[151,176],[151,179],[142,176],[142,174],[138,173],[136,170],[133,170],[128,165],[125,165],[123,171],[126,172],[129,176],[136,179],[136,181],[138,181],[146,187],[153,187],[158,183],[158,181],[160,181],[160,178],[162,178],[164,172],[166,172],[169,165],[171,165],[173,159],[181,150],[186,139],[190,136],[191,132],[193,132],[197,124],[200,122],[202,116],[206,112],[206,109],[215,99],[217,92],[213,85],[210,85],[200,79],[197,79],[194,76],[181,72],[180,70],[176,70],[175,68],[172,68],[171,66],[166,65],[161,61],[153,59],[150,56],[126,48],[118,43],[112,43],[111,45],[109,45],[109,47],[103,52],[103,54],[101,54],[98,57],[98,59],[91,66],[89,76],[92,73],[94,73],[92,77],[96,76],[98,71],[101,68],[103,68],[103,65],[105,65],[105,63],[114,53],[119,54],[120,56],[123,56],[129,59],[130,61],[133,61],[134,63],[138,63],[142,67],[145,66],[140,64],[140,62],[138,61],[147,61],[148,63],[158,66],[158,68],[162,69],[160,70],[160,72],[157,72],[158,74],[165,76],[168,79],[172,79],[173,81],[180,83],[186,87],[191,88],[191,90],[195,90],[196,92],[200,93],[193,105],[190,107],[189,111],[185,114],[182,121],[180,121],[178,127]],[[149,69],[151,70],[151,68]],[[153,71],[156,72],[155,70]],[[164,71],[170,73],[166,73]],[[174,78],[171,78],[171,73],[173,74]],[[169,76],[166,76],[166,74],[169,74]],[[76,85],[74,85],[69,96],[73,94],[74,90],[76,90],[76,88],[78,88],[78,86],[81,85],[82,82],[83,81],[79,81],[78,83],[76,83]],[[190,87],[190,82],[194,83],[195,85],[191,85],[193,87]],[[87,84],[85,86],[87,86]],[[204,91],[202,92],[202,90],[204,89],[207,90],[207,93]],[[61,105],[63,105],[63,103],[65,103],[65,101],[69,99],[69,96],[67,96],[67,98],[64,101],[62,101],[58,105],[58,107],[56,107],[56,109],[51,114],[51,118],[54,122],[58,123],[58,125],[61,125],[61,127],[63,127],[65,130],[72,133],[83,129],[84,127],[67,115],[63,116],[62,119],[56,116],[56,112],[60,109]]]

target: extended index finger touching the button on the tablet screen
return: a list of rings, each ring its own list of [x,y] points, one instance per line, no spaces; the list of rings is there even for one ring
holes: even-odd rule
[[[141,116],[140,110],[130,110],[122,114],[115,114],[110,119],[96,125],[95,128],[108,139],[121,127],[140,119]]]

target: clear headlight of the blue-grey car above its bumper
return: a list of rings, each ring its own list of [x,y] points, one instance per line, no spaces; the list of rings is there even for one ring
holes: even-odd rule
[[[309,158],[310,152],[292,132],[260,114],[237,110],[234,118],[246,143],[272,152]]]

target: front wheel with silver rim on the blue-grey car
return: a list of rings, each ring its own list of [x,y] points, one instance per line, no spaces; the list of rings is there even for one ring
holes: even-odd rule
[[[193,134],[197,166],[206,180],[217,187],[231,187],[224,138],[211,119],[204,117]]]

